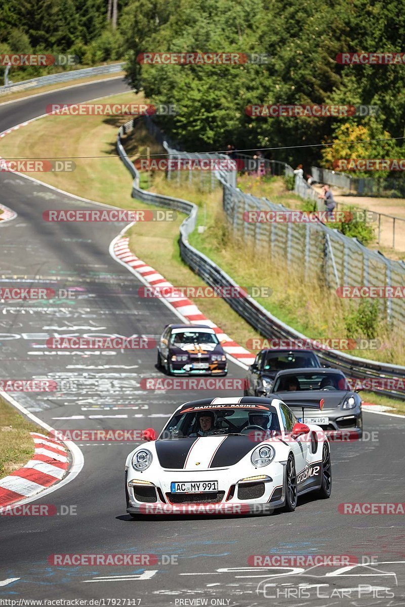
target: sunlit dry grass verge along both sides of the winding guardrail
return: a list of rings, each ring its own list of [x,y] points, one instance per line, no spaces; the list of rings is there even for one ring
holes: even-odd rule
[[[144,101],[134,93],[123,93],[109,97],[109,101]],[[55,128],[55,120],[58,120]],[[81,195],[84,198],[98,200],[120,208],[155,208],[131,198],[131,177],[115,153],[118,126],[126,118],[103,117],[47,117],[30,123],[28,126],[4,137],[0,143],[0,155],[3,157],[24,157],[27,154],[27,141],[30,141],[30,156],[41,158],[43,155],[78,157],[77,168],[71,173],[32,174],[44,183]],[[124,144],[129,156],[160,154],[162,149],[149,136],[146,129],[138,123],[136,137],[127,137]],[[96,158],[97,157],[97,158]],[[275,181],[277,183],[277,181]],[[207,226],[203,234],[197,231],[191,235],[191,242],[227,271],[240,285],[271,286],[270,298],[262,298],[264,305],[274,316],[284,320],[291,327],[312,337],[345,337],[344,319],[348,310],[347,302],[336,302],[336,297],[322,288],[319,282],[302,283],[298,273],[285,272],[279,260],[260,259],[253,250],[231,237],[226,218],[222,212],[222,191],[203,192],[182,183],[180,187],[174,181],[167,181],[162,174],[143,175],[143,186],[151,191],[174,195],[196,203],[200,207],[199,223]],[[272,195],[272,194],[269,194]],[[274,197],[273,197],[274,198]],[[297,198],[297,203],[299,202]],[[277,201],[278,202],[278,201]],[[281,201],[280,201],[281,202]],[[130,246],[135,254],[158,270],[175,286],[205,283],[199,279],[180,259],[178,238],[179,226],[184,216],[177,215],[174,222],[165,224],[150,222],[134,226],[129,232]],[[196,300],[200,310],[218,324],[225,333],[236,342],[245,345],[248,339],[260,337],[240,316],[221,299]],[[390,357],[405,362],[403,345],[389,341],[383,343],[381,351],[359,351],[363,358],[381,357],[390,361]],[[381,339],[381,336],[380,336]],[[387,345],[390,344],[390,345]],[[400,349],[402,348],[402,349]],[[401,356],[398,354],[400,353]],[[398,356],[396,356],[398,354]],[[380,397],[379,397],[380,398]],[[365,399],[372,396],[367,393]],[[398,401],[387,399],[387,406],[396,407]],[[383,404],[383,403],[381,403]]]

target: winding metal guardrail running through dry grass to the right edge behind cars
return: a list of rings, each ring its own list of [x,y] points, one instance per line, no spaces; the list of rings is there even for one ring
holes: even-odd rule
[[[133,121],[131,121],[133,123]],[[190,268],[201,276],[205,282],[211,287],[237,287],[237,283],[221,270],[216,263],[200,253],[196,248],[188,242],[188,236],[196,226],[197,206],[182,200],[181,198],[172,198],[162,194],[155,194],[143,190],[139,186],[139,173],[135,169],[134,164],[129,160],[125,152],[121,137],[130,132],[131,125],[121,126],[118,131],[117,152],[125,166],[129,169],[134,177],[132,183],[132,196],[142,200],[143,202],[166,206],[177,211],[182,211],[188,214],[186,219],[180,226],[180,254],[182,259],[190,266]],[[293,328],[281,322],[270,314],[264,307],[258,304],[254,299],[232,297],[223,299],[233,308],[242,318],[254,327],[260,334],[268,339],[308,339],[302,333],[295,331]],[[319,358],[324,364],[333,365],[344,371],[345,375],[356,379],[400,379],[405,384],[405,367],[400,365],[390,365],[383,362],[370,361],[363,358],[357,358],[345,354],[337,350],[319,351]],[[373,388],[375,392],[386,396],[394,396],[396,398],[404,398],[404,392],[400,389]]]

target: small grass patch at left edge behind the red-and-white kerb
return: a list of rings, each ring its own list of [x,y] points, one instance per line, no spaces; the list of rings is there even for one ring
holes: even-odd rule
[[[24,466],[34,453],[30,432],[38,432],[28,419],[0,398],[0,478]]]

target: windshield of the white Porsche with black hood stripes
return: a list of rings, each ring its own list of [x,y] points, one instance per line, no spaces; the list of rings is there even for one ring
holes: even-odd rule
[[[271,435],[280,433],[274,407],[191,407],[174,415],[162,430],[159,439],[184,436],[247,435],[254,430],[265,430]]]

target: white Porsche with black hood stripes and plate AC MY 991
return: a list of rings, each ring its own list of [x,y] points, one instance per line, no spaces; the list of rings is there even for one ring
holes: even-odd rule
[[[143,438],[148,446],[134,449],[125,464],[132,516],[293,511],[308,491],[330,497],[327,436],[319,426],[299,423],[278,398],[186,402],[157,438],[153,429]]]

